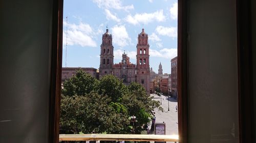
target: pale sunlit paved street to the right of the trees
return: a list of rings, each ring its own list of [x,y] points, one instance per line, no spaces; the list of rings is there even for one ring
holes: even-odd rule
[[[160,96],[151,94],[154,96],[154,100],[160,101]],[[156,123],[165,123],[166,135],[177,134],[178,135],[178,112],[176,112],[176,105],[178,102],[174,98],[169,98],[169,111],[168,111],[168,97],[162,96],[162,105],[164,112],[155,109]],[[148,125],[151,128],[151,124]]]

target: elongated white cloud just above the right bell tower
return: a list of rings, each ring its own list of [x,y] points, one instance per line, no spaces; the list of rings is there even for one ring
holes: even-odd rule
[[[143,23],[147,24],[150,22],[153,22],[154,20],[161,22],[165,20],[165,16],[163,15],[163,10],[156,11],[154,13],[141,13],[141,14],[135,14],[132,16],[129,14],[125,20],[131,24],[138,24]]]

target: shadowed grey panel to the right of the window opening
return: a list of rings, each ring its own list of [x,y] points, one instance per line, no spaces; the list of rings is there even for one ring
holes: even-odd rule
[[[238,142],[236,1],[188,7],[189,142]]]

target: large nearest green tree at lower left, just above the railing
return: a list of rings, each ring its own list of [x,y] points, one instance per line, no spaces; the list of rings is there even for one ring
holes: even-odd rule
[[[91,92],[86,96],[61,96],[60,129],[72,133],[125,133],[129,120],[108,105],[110,98]]]

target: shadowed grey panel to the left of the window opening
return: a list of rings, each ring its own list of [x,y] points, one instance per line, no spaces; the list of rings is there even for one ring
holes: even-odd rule
[[[0,2],[0,142],[48,142],[52,1]]]

